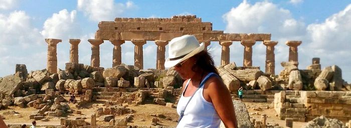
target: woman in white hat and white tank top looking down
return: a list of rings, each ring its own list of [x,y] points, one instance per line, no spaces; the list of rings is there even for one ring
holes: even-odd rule
[[[180,119],[177,127],[237,127],[233,101],[204,43],[193,35],[177,37],[169,42],[164,66],[185,79],[178,102]],[[203,84],[201,84],[201,82]]]

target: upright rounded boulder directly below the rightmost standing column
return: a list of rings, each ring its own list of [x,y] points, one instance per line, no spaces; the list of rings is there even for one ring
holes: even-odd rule
[[[293,70],[289,74],[289,89],[301,90],[303,87],[302,77],[299,70]]]

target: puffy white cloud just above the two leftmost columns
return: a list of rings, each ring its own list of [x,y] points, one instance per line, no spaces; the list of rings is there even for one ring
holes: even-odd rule
[[[77,11],[70,13],[64,9],[58,14],[53,14],[48,18],[43,27],[41,34],[44,38],[56,38],[68,40],[69,38],[77,38],[80,35],[79,24],[76,22]]]

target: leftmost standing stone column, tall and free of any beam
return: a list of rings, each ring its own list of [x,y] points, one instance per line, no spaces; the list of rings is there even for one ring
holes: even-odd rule
[[[62,42],[59,39],[45,39],[45,42],[48,43],[48,63],[46,69],[50,73],[57,73],[57,49],[56,46],[58,43]]]

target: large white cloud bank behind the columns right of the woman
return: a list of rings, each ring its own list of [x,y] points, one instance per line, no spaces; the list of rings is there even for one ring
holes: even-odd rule
[[[294,1],[297,3],[297,1]],[[300,2],[300,1],[298,1]],[[301,1],[302,2],[302,1]],[[300,3],[301,3],[300,2]],[[299,68],[305,69],[311,64],[313,57],[319,57],[322,68],[338,65],[342,69],[343,78],[351,81],[351,5],[325,20],[324,23],[311,24],[307,27],[301,20],[292,17],[289,10],[279,8],[268,1],[257,2],[253,5],[243,1],[238,7],[232,8],[223,15],[227,23],[226,33],[271,33],[271,40],[278,41],[275,46],[275,72],[278,74],[282,67],[280,62],[288,60],[289,48],[287,40],[301,40],[298,47]],[[231,48],[231,62],[242,66],[243,46],[233,42]],[[221,47],[215,47],[221,51]],[[266,46],[256,42],[253,46],[253,66],[260,66],[264,70]],[[215,53],[216,54],[216,53]],[[220,53],[217,53],[220,57]],[[239,57],[238,57],[239,56]]]

